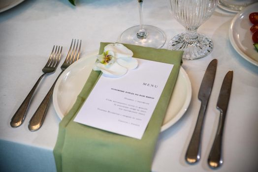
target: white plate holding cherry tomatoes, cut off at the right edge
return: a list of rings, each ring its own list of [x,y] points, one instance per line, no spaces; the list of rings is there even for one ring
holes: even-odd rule
[[[229,27],[229,40],[239,55],[258,66],[258,52],[253,45],[253,33],[250,31],[253,24],[249,20],[249,14],[252,12],[258,12],[258,3],[237,13]]]

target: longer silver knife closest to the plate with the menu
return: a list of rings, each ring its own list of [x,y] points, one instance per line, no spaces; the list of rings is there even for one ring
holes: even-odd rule
[[[201,86],[199,89],[198,99],[201,101],[201,107],[199,111],[199,115],[197,118],[197,122],[194,128],[194,133],[192,139],[189,143],[185,159],[188,163],[194,164],[200,159],[200,141],[201,141],[201,133],[202,133],[202,125],[206,112],[206,108],[209,102],[212,86],[214,83],[216,69],[217,69],[217,59],[213,59],[208,65],[205,74],[203,76]]]

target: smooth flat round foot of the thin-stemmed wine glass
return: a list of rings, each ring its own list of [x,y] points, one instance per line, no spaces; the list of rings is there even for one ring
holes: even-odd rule
[[[143,25],[143,27],[147,32],[146,38],[139,39],[137,37],[137,32],[140,30],[140,26],[138,25],[126,29],[120,35],[118,42],[140,45],[144,47],[161,48],[166,41],[164,32],[161,29],[150,25]]]

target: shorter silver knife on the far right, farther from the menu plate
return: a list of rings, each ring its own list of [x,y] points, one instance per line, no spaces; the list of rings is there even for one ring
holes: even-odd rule
[[[220,113],[220,120],[219,120],[216,137],[208,158],[208,164],[211,168],[218,168],[223,163],[222,151],[221,151],[222,134],[223,134],[223,128],[224,128],[224,123],[226,119],[227,105],[228,105],[230,92],[231,92],[232,79],[233,79],[233,71],[228,71],[223,80],[220,95],[218,98],[217,109],[219,109],[221,113]]]

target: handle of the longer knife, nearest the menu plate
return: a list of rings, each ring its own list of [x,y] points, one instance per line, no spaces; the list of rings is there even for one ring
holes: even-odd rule
[[[200,141],[201,141],[202,125],[203,125],[207,104],[208,102],[205,102],[205,103],[201,102],[201,107],[200,107],[199,115],[194,128],[194,133],[189,143],[186,156],[185,156],[185,159],[189,164],[194,164],[200,160],[200,152],[201,152]]]

